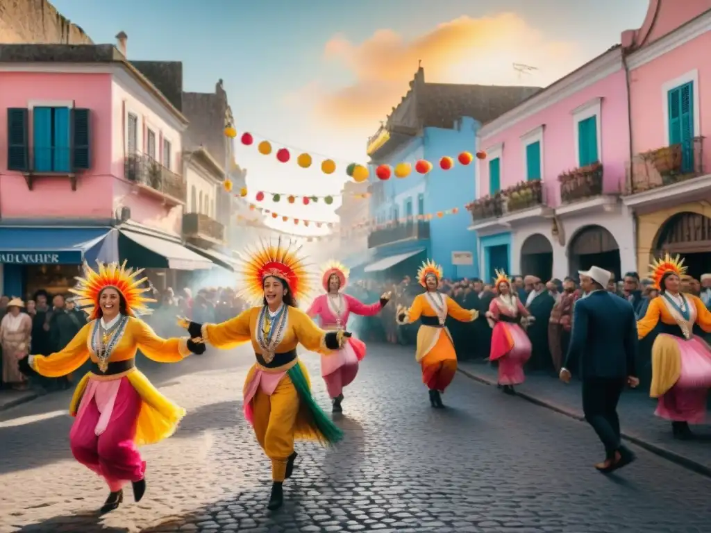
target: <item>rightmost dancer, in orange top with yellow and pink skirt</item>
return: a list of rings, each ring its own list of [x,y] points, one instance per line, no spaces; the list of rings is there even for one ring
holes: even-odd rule
[[[666,254],[650,266],[659,296],[637,322],[640,339],[655,328],[659,332],[652,345],[649,395],[659,399],[654,414],[671,421],[673,435],[691,438],[689,424],[704,420],[711,387],[711,349],[701,338],[711,332],[711,312],[700,298],[680,291],[686,267],[679,256]]]

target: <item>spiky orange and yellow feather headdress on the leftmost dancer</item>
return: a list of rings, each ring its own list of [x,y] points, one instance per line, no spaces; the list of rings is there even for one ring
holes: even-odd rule
[[[119,266],[118,263],[103,264],[97,261],[98,269],[92,269],[88,264],[84,263],[84,276],[77,276],[75,279],[79,282],[77,286],[69,291],[76,296],[73,300],[77,306],[84,309],[89,320],[99,318],[99,296],[101,291],[107,287],[113,287],[126,300],[126,311],[130,316],[148,315],[151,313],[151,308],[147,303],[154,302],[154,298],[146,298],[143,296],[150,291],[149,287],[141,288],[141,285],[148,278],[139,278],[144,269],[127,269],[126,262]]]

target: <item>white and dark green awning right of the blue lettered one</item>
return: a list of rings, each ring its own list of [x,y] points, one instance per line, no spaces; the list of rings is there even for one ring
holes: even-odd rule
[[[119,256],[129,266],[145,269],[210,269],[210,259],[187,249],[178,239],[119,228]]]

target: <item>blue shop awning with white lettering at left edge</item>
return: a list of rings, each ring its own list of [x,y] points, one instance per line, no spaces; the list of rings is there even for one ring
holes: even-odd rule
[[[82,264],[102,242],[109,227],[2,226],[0,263]]]

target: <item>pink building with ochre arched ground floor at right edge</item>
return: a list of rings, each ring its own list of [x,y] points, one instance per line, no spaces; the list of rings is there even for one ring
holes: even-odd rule
[[[629,68],[631,164],[640,269],[663,252],[711,271],[711,0],[652,0],[622,34]]]

